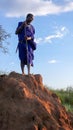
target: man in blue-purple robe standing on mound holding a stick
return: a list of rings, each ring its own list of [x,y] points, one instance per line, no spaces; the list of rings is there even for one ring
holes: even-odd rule
[[[27,14],[26,20],[24,22],[19,22],[15,32],[19,40],[17,49],[19,50],[20,65],[23,75],[25,74],[25,65],[27,65],[28,75],[30,74],[30,66],[33,66],[34,50],[36,50],[36,43],[34,42],[35,29],[31,25],[32,21],[33,14]]]

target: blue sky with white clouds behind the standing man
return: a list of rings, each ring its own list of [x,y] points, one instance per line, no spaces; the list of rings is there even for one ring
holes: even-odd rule
[[[11,35],[9,53],[0,50],[0,71],[21,73],[15,30],[27,13],[34,14],[37,42],[31,73],[41,74],[44,85],[50,88],[73,86],[73,0],[0,1],[0,25]]]

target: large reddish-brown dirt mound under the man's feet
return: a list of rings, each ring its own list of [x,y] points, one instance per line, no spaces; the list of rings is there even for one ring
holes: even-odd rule
[[[0,130],[73,130],[73,115],[41,75],[11,72],[0,76]]]

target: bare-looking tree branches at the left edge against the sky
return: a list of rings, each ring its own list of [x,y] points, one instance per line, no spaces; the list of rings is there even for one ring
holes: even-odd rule
[[[8,34],[3,28],[2,25],[0,25],[0,49],[3,53],[8,53],[8,49],[5,46],[5,44],[8,44],[7,39],[10,37],[10,34]]]

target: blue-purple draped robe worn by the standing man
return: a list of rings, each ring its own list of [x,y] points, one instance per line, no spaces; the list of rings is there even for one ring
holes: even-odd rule
[[[19,22],[18,28],[23,22]],[[33,66],[34,60],[34,50],[36,50],[36,43],[34,42],[34,27],[29,24],[23,28],[23,30],[18,34],[18,49],[19,49],[19,58],[22,63],[25,65],[30,64]],[[26,41],[25,36],[31,37],[31,40]]]

